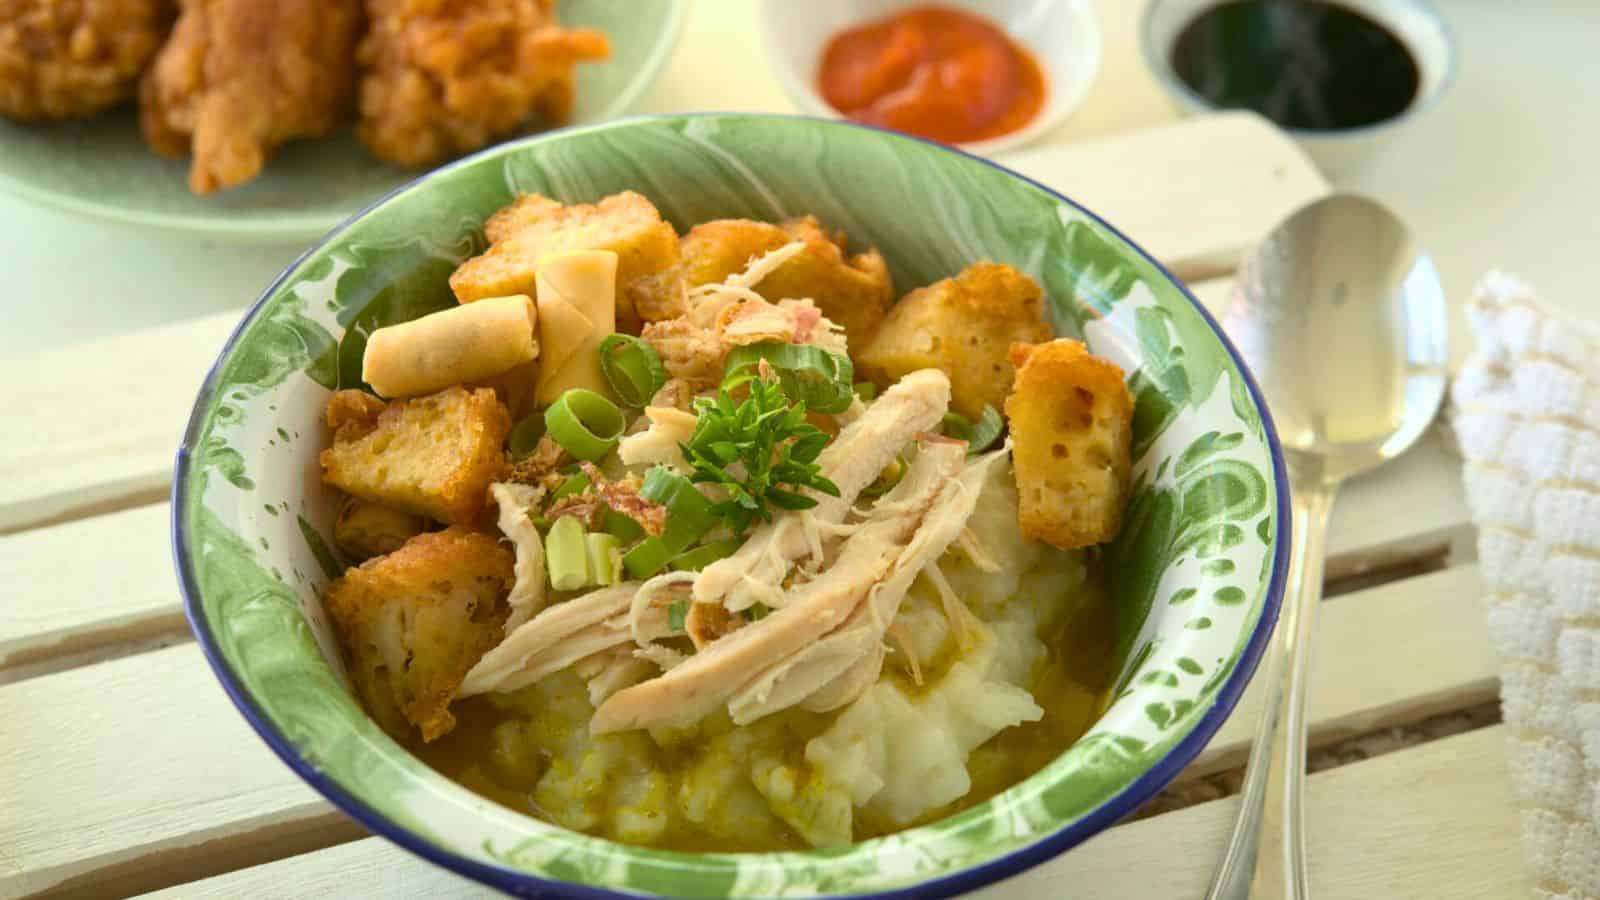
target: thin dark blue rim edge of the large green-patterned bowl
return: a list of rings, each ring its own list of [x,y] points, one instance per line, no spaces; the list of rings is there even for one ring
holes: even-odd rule
[[[1046,195],[1054,197],[1062,203],[1067,203],[1074,210],[1093,219],[1101,227],[1115,234],[1139,256],[1142,256],[1147,263],[1150,263],[1168,282],[1176,285],[1178,290],[1182,293],[1182,296],[1189,301],[1189,304],[1194,306],[1194,309],[1202,315],[1202,319],[1205,319],[1205,323],[1211,328],[1211,333],[1218,338],[1218,341],[1221,341],[1222,349],[1227,351],[1229,357],[1234,360],[1238,372],[1243,375],[1245,388],[1250,391],[1250,399],[1256,405],[1256,410],[1261,413],[1261,426],[1267,439],[1267,452],[1272,458],[1272,484],[1277,493],[1277,511],[1275,511],[1277,541],[1272,548],[1272,577],[1267,583],[1267,596],[1261,604],[1261,618],[1256,621],[1254,633],[1250,636],[1250,641],[1238,655],[1238,665],[1229,674],[1227,681],[1218,689],[1211,708],[1206,709],[1206,713],[1200,717],[1200,721],[1194,725],[1194,729],[1190,729],[1190,732],[1184,735],[1166,753],[1166,756],[1163,756],[1155,762],[1155,765],[1138,775],[1128,786],[1125,786],[1122,791],[1118,791],[1107,801],[1101,802],[1093,810],[1083,814],[1083,817],[1080,817],[1077,822],[1058,828],[1056,831],[1045,834],[1043,838],[1034,841],[1032,844],[1027,844],[1026,847],[1019,847],[989,862],[978,863],[962,871],[939,876],[930,881],[909,884],[902,887],[893,887],[886,890],[867,892],[867,894],[834,894],[822,897],[822,900],[843,900],[846,897],[848,898],[872,897],[883,900],[928,900],[928,898],[950,897],[966,890],[974,890],[978,887],[992,884],[1003,878],[1010,878],[1013,874],[1034,868],[1053,857],[1064,854],[1066,850],[1082,844],[1083,841],[1093,838],[1094,834],[1101,833],[1102,830],[1112,826],[1123,817],[1139,809],[1139,806],[1142,806],[1144,801],[1155,796],[1157,791],[1160,791],[1173,778],[1176,778],[1178,773],[1182,772],[1182,769],[1189,765],[1189,762],[1194,761],[1195,756],[1200,754],[1200,751],[1206,746],[1206,743],[1210,743],[1211,735],[1216,733],[1216,730],[1222,725],[1227,716],[1234,711],[1234,706],[1238,703],[1240,695],[1243,695],[1245,692],[1245,685],[1248,685],[1250,679],[1254,676],[1256,666],[1261,661],[1261,655],[1272,637],[1274,628],[1277,626],[1278,610],[1282,609],[1283,604],[1283,586],[1288,570],[1288,548],[1293,538],[1293,535],[1290,533],[1291,528],[1290,487],[1283,463],[1283,445],[1278,442],[1278,432],[1272,423],[1272,415],[1267,412],[1266,399],[1261,396],[1261,388],[1256,384],[1254,376],[1245,365],[1243,357],[1238,356],[1238,351],[1227,340],[1227,335],[1222,331],[1221,327],[1218,327],[1216,320],[1211,317],[1210,312],[1206,312],[1205,306],[1202,306],[1200,301],[1195,299],[1195,296],[1189,291],[1189,288],[1184,287],[1181,280],[1173,277],[1173,274],[1168,272],[1166,267],[1162,266],[1162,263],[1158,263],[1155,258],[1146,253],[1142,247],[1139,247],[1133,240],[1128,240],[1128,237],[1120,231],[1117,231],[1115,226],[1099,218],[1098,215],[1091,213],[1090,210],[1083,208],[1075,200],[1067,199],[1061,192],[1053,191],[1040,184],[1038,181],[1027,178],[1026,175],[1013,171],[984,157],[968,154],[958,147],[950,147],[947,144],[939,144],[938,141],[928,141],[925,138],[917,138],[914,135],[904,135],[901,131],[890,131],[886,128],[877,128],[872,125],[861,125],[856,122],[846,122],[838,119],[821,119],[814,115],[778,115],[778,114],[741,114],[741,112],[686,112],[686,114],[662,114],[662,115],[634,115],[598,125],[574,125],[568,128],[546,131],[542,135],[536,135],[531,138],[523,138],[522,141],[499,144],[496,147],[480,151],[469,157],[462,157],[446,167],[434,170],[432,173],[422,175],[390,191],[384,197],[370,203],[366,208],[352,215],[339,227],[330,231],[326,235],[323,235],[322,240],[318,240],[309,250],[301,253],[299,258],[296,258],[293,263],[290,263],[290,266],[283,269],[283,272],[280,272],[278,277],[275,277],[270,285],[267,285],[267,288],[261,293],[256,303],[253,303],[250,309],[245,312],[245,315],[240,319],[238,325],[234,328],[234,333],[229,335],[227,343],[218,354],[216,362],[211,364],[211,370],[206,373],[205,383],[200,386],[200,394],[195,397],[195,407],[194,412],[190,413],[189,426],[184,429],[184,442],[178,448],[178,458],[173,471],[173,488],[170,496],[173,511],[173,520],[171,520],[173,562],[178,569],[178,586],[184,599],[184,615],[189,620],[189,628],[195,633],[195,641],[200,644],[200,649],[205,653],[206,661],[211,665],[211,671],[216,674],[218,681],[222,682],[222,689],[234,701],[234,706],[238,708],[238,711],[245,716],[245,721],[248,721],[250,725],[256,730],[256,733],[261,735],[261,740],[264,740],[267,746],[270,746],[272,751],[277,753],[278,757],[290,769],[293,769],[294,773],[299,775],[307,785],[310,785],[325,798],[328,798],[334,806],[344,810],[346,815],[357,820],[368,831],[381,834],[389,841],[398,844],[400,847],[405,847],[406,850],[416,854],[418,857],[422,857],[424,860],[443,866],[445,870],[454,871],[456,874],[462,874],[466,878],[488,884],[490,887],[504,890],[512,895],[566,897],[573,900],[632,900],[638,897],[638,894],[635,892],[616,890],[610,887],[595,887],[570,881],[552,881],[536,874],[504,866],[494,866],[490,863],[483,863],[480,860],[464,857],[461,854],[456,854],[454,850],[440,847],[437,844],[432,844],[427,839],[402,826],[394,825],[392,822],[384,818],[382,814],[366,806],[365,801],[346,791],[331,777],[317,770],[310,762],[302,759],[296,751],[294,745],[267,719],[266,711],[261,709],[256,700],[245,690],[245,685],[238,681],[232,668],[229,668],[227,661],[222,658],[222,649],[218,645],[216,639],[211,634],[211,626],[208,625],[205,609],[200,604],[200,585],[198,578],[195,577],[194,559],[187,546],[186,522],[184,522],[184,509],[186,509],[184,496],[189,493],[190,452],[197,439],[200,437],[200,432],[205,429],[206,410],[211,407],[211,397],[216,392],[218,380],[222,375],[226,362],[232,357],[235,344],[238,343],[245,330],[254,322],[254,317],[261,311],[261,307],[266,306],[266,303],[301,267],[301,264],[306,263],[306,259],[309,259],[314,253],[322,250],[334,237],[338,237],[342,231],[355,224],[358,219],[365,218],[373,210],[398,197],[400,194],[405,194],[413,187],[421,186],[424,179],[456,168],[470,167],[480,157],[507,152],[512,147],[520,147],[523,144],[533,144],[547,139],[560,139],[562,136],[576,131],[587,131],[595,128],[614,128],[637,122],[661,122],[661,120],[685,120],[685,119],[776,119],[790,122],[810,122],[818,127],[827,127],[827,128],[854,128],[862,131],[877,131],[880,135],[894,139],[910,139],[930,144],[936,149],[947,151],[960,157],[965,157],[968,160],[995,168],[1011,178],[1022,179],[1024,183],[1043,191]],[[693,857],[694,854],[683,854],[683,855]]]

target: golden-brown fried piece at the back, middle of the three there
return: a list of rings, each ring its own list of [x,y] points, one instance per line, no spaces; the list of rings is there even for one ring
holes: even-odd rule
[[[683,235],[683,282],[709,285],[744,271],[754,256],[803,240],[805,253],[789,259],[755,285],[770,301],[810,298],[822,315],[845,328],[851,348],[864,348],[894,301],[894,282],[877,250],[845,255],[843,232],[822,231],[814,216],[782,224],[717,219]]]

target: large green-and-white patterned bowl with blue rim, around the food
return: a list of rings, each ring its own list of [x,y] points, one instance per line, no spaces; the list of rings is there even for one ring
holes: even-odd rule
[[[840,850],[678,854],[496,806],[371,722],[318,607],[336,575],[318,480],[347,330],[451,304],[445,277],[518,192],[635,189],[680,229],[814,213],[878,247],[906,290],[990,258],[1038,279],[1062,335],[1130,372],[1134,493],[1107,552],[1122,674],[1099,722],[1032,778],[950,818]],[[845,122],[686,115],[570,128],[435,171],[330,234],[222,349],[178,455],[173,541],[194,631],[261,737],[373,831],[515,892],[915,895],[1006,878],[1133,812],[1243,692],[1283,589],[1282,452],[1237,354],[1144,251],[1066,197],[936,144]]]

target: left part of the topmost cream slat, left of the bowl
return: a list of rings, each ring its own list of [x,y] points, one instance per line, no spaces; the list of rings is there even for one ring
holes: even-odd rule
[[[0,359],[0,535],[166,492],[189,408],[240,311]]]

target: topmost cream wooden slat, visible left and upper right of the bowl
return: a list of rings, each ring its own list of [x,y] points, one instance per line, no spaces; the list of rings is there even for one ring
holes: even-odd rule
[[[1182,167],[1154,162],[1173,147],[1182,147]],[[1242,115],[1018,159],[1037,178],[1088,192],[1158,255],[1208,267],[1326,191],[1293,143]],[[1109,187],[1125,181],[1130,159],[1144,160],[1138,189]],[[0,360],[0,383],[29,384],[16,394],[26,404],[0,408],[14,434],[0,445],[0,533],[158,500],[195,392],[238,315]]]

